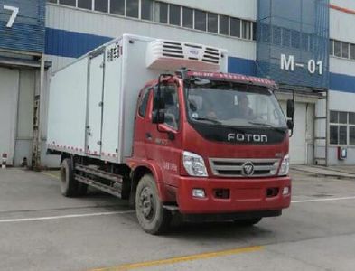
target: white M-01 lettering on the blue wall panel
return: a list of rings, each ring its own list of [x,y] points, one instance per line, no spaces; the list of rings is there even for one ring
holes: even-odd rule
[[[281,54],[280,58],[280,69],[294,71],[296,68],[299,69],[307,69],[310,74],[319,74],[322,75],[322,61],[316,60],[308,60],[306,64],[299,63],[294,61],[293,55],[286,56],[285,54]]]

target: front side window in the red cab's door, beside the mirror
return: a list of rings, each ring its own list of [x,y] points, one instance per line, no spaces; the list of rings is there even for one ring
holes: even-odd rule
[[[165,101],[165,125],[177,130],[180,123],[179,97],[176,85],[163,87]]]

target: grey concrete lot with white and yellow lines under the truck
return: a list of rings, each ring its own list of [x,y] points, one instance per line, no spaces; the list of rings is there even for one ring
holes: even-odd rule
[[[55,174],[0,170],[0,270],[353,270],[355,179],[292,176],[279,218],[180,224],[155,237],[125,201],[67,199]]]

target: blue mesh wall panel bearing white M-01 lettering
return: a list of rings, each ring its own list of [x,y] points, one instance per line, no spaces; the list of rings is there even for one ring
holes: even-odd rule
[[[257,75],[328,89],[329,0],[258,0],[257,9]],[[294,70],[281,69],[282,54],[294,58]],[[322,74],[317,65],[310,72],[309,61],[322,61]]]

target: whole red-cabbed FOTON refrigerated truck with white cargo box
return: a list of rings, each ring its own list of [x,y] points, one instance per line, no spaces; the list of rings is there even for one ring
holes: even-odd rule
[[[129,200],[152,234],[176,213],[243,225],[281,215],[293,121],[275,82],[227,66],[223,49],[124,34],[53,73],[47,145],[61,193]]]

